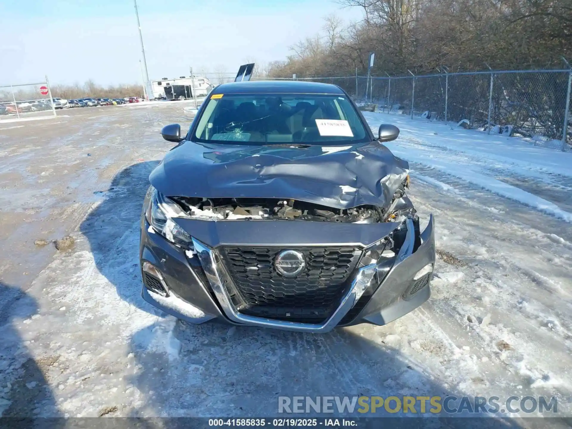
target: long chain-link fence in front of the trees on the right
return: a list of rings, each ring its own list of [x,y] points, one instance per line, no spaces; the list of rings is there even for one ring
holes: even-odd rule
[[[572,144],[571,77],[570,70],[372,77],[370,82],[358,76],[355,100],[377,104],[383,112],[467,120],[471,128],[488,132],[510,126],[511,135],[560,140],[564,148],[566,141]]]

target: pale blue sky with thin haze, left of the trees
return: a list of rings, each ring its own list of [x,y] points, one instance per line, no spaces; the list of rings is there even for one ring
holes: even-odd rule
[[[335,13],[359,9],[331,0],[137,0],[149,77],[236,72],[248,59],[284,59],[288,47],[320,31]],[[0,0],[0,85],[93,79],[141,82],[133,0]]]

